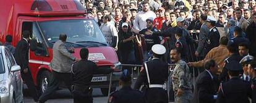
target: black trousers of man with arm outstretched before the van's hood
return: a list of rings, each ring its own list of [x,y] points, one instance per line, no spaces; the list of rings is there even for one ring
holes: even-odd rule
[[[88,91],[80,91],[77,89],[74,89],[72,91],[73,97],[74,97],[74,103],[93,103],[93,97],[92,94],[89,93]]]

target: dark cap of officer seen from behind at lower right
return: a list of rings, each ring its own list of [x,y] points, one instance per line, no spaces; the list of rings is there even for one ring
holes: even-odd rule
[[[226,68],[229,71],[242,71],[242,65],[239,64],[239,62],[236,60],[233,60],[233,61],[229,62],[228,64],[226,64]]]

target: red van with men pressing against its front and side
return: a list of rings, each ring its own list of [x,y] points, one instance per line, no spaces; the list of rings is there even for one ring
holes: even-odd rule
[[[79,0],[1,0],[0,1],[0,41],[6,35],[13,36],[12,45],[22,39],[22,31],[30,31],[35,42],[30,43],[29,66],[33,82],[43,93],[49,84],[48,67],[53,59],[53,44],[59,35],[67,35],[66,47],[74,47],[74,56],[80,58],[83,47],[89,50],[89,60],[105,69],[120,65],[114,46],[109,46],[95,19],[86,15]],[[33,49],[32,49],[33,48]],[[33,50],[33,51],[32,51]],[[111,91],[118,86],[120,73],[114,73]],[[108,95],[110,75],[94,75],[93,88],[101,88]],[[59,87],[66,88],[66,87]]]

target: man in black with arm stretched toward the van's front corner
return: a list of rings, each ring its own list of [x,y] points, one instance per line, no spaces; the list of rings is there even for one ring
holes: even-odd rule
[[[74,95],[74,103],[92,103],[92,84],[93,74],[108,74],[111,72],[121,72],[114,68],[100,69],[96,64],[88,60],[88,49],[80,50],[81,60],[72,65],[72,93]]]

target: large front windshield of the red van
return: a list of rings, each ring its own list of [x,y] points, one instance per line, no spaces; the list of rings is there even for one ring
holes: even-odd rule
[[[95,20],[51,20],[38,24],[50,47],[59,40],[61,33],[67,35],[66,44],[72,44],[72,47],[108,46]]]

